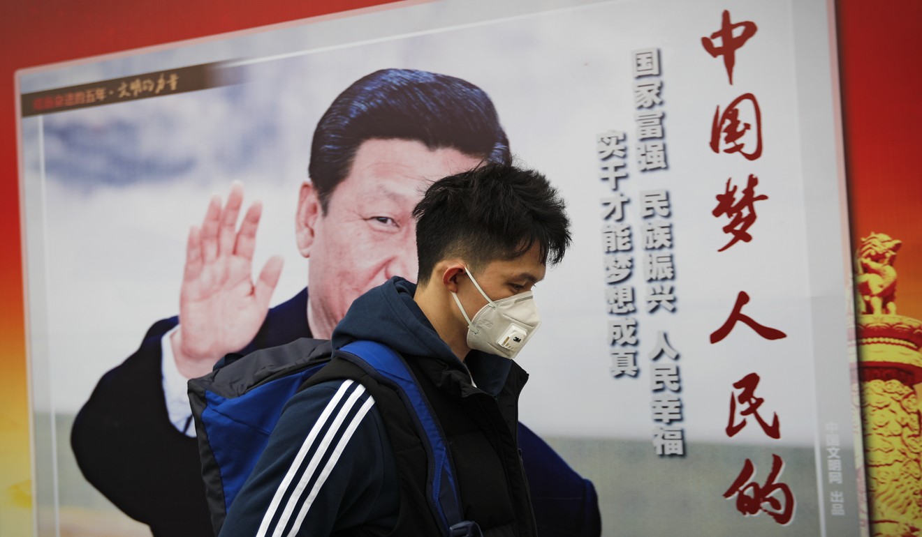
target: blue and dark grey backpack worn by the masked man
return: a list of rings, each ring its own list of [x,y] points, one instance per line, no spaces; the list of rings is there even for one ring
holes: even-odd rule
[[[405,404],[430,459],[427,500],[443,535],[481,535],[476,522],[462,518],[448,447],[425,394],[403,358],[376,342],[356,341],[334,351],[328,341],[310,338],[258,350],[233,361],[228,356],[205,377],[188,382],[215,534],[266,449],[285,404],[334,356],[358,365],[373,379],[395,390]],[[223,365],[225,362],[228,363]]]

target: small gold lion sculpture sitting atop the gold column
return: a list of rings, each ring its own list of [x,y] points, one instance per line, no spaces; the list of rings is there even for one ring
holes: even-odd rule
[[[903,241],[871,231],[861,239],[855,279],[864,315],[896,315],[896,252]]]

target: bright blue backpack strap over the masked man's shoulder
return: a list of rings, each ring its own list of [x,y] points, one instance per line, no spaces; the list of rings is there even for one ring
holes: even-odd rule
[[[455,480],[454,464],[444,434],[425,394],[420,390],[412,370],[403,357],[387,345],[372,341],[354,341],[344,345],[339,355],[362,368],[373,379],[396,388],[417,426],[428,458],[427,499],[438,514],[444,535],[479,537],[476,522],[465,520]]]

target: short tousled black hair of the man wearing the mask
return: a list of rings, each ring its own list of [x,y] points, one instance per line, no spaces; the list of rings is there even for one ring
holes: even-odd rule
[[[538,245],[541,263],[560,263],[571,241],[564,207],[544,175],[510,164],[487,163],[433,182],[413,209],[420,285],[449,257],[479,272]]]

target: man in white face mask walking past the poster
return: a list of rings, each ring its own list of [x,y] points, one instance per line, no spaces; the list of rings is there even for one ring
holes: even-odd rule
[[[370,340],[406,359],[449,446],[462,517],[486,537],[538,534],[516,441],[527,374],[510,358],[540,324],[532,287],[570,244],[563,205],[544,176],[505,164],[436,181],[413,211],[419,286],[396,276],[373,288],[333,333],[335,348]],[[397,479],[388,437],[399,429],[378,412],[377,383],[338,367],[346,379],[320,379],[287,405],[222,536],[443,534],[425,502],[409,501],[425,472]]]

